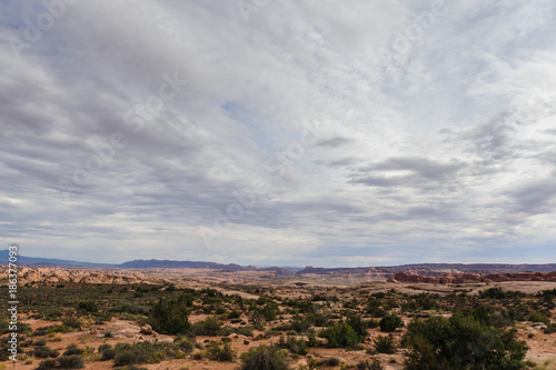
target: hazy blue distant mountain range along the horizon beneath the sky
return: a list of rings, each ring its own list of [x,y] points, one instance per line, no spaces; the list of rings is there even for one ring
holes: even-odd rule
[[[8,263],[8,250],[0,251],[0,263]],[[390,276],[396,272],[405,271],[410,273],[418,273],[423,276],[436,276],[440,273],[492,273],[492,272],[552,272],[556,271],[556,263],[545,264],[512,264],[512,263],[415,263],[401,264],[389,267],[357,267],[357,268],[314,268],[306,267],[305,269],[298,268],[282,268],[269,267],[261,268],[256,266],[240,266],[236,263],[218,263],[218,262],[203,262],[203,261],[171,261],[171,260],[133,260],[123,262],[121,264],[111,263],[92,263],[72,260],[61,260],[51,258],[26,257],[18,256],[19,266],[32,267],[105,267],[105,268],[122,268],[122,269],[215,269],[225,271],[276,271],[281,276],[294,274],[360,274],[360,276]]]

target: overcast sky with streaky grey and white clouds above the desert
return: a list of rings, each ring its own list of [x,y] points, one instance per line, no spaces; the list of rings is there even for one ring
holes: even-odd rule
[[[556,262],[554,34],[554,1],[1,0],[0,243]]]

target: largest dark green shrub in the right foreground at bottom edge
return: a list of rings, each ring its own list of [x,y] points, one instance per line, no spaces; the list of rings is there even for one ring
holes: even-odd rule
[[[520,370],[527,352],[525,342],[517,341],[515,330],[489,327],[461,312],[449,319],[414,320],[403,343],[408,348],[407,370]]]

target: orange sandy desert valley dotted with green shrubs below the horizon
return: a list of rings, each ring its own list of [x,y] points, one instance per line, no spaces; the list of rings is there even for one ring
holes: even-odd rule
[[[556,272],[497,268],[22,267],[18,361],[9,360],[4,334],[2,363],[29,370],[555,369]],[[437,326],[444,329],[435,336],[456,330],[460,338],[426,342],[423,333]],[[453,340],[453,348],[433,340]],[[431,359],[427,346],[445,358]]]

